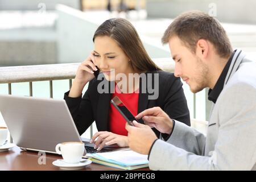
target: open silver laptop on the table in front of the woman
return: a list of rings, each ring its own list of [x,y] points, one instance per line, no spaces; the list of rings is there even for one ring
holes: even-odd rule
[[[94,152],[89,139],[80,137],[64,100],[0,94],[0,112],[14,143],[23,150],[56,154],[58,143],[84,142],[88,153]],[[102,152],[115,149],[104,147]]]

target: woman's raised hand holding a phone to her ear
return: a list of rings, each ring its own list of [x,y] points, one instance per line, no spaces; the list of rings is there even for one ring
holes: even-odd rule
[[[93,72],[97,71],[93,52],[83,61],[76,72],[75,80],[68,94],[69,97],[79,97],[86,83],[94,78]]]

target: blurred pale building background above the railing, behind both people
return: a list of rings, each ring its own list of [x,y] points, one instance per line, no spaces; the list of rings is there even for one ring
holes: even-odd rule
[[[110,2],[113,11],[117,11],[120,0]],[[124,2],[130,14],[137,15],[138,11],[133,9],[147,10],[145,17],[149,18],[130,16],[129,20],[152,58],[170,57],[168,46],[163,47],[160,42],[163,32],[171,18],[193,9],[213,14],[215,11],[221,23],[229,22],[223,26],[234,48],[242,48],[256,57],[256,26],[253,25],[256,2],[253,0]],[[106,10],[107,4],[106,0],[0,0],[0,66],[82,61],[93,49],[94,31],[104,20],[114,18]]]

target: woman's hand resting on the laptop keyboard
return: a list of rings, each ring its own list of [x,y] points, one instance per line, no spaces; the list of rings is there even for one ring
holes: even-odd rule
[[[100,151],[105,145],[109,146],[111,144],[117,144],[119,147],[128,147],[128,138],[109,131],[99,131],[93,135],[90,143],[94,143],[94,148]]]

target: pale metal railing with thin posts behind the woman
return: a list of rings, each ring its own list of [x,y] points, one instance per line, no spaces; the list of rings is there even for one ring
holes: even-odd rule
[[[168,58],[153,60],[160,68],[167,72],[174,72],[175,65]],[[9,94],[12,94],[12,84],[29,82],[30,96],[33,96],[33,82],[49,81],[49,98],[53,98],[53,80],[69,80],[69,89],[72,79],[75,78],[80,63],[28,65],[16,67],[0,67],[0,84],[8,84]],[[93,127],[90,126],[90,137]]]

